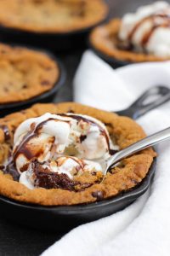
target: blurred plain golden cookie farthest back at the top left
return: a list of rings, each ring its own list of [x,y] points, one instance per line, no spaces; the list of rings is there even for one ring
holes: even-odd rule
[[[1,0],[1,26],[28,32],[71,32],[104,20],[103,0]],[[57,15],[56,15],[57,14]]]

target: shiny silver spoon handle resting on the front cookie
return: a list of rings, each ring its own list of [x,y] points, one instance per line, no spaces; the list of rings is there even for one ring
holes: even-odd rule
[[[107,160],[107,167],[105,173],[107,172],[108,168],[119,162],[120,160],[126,158],[129,155],[139,152],[144,148],[149,148],[157,143],[161,143],[167,139],[170,139],[170,127],[158,131],[149,137],[144,137],[144,139],[140,140],[137,143],[133,143],[127,148],[122,149],[121,151],[117,152],[113,156]]]

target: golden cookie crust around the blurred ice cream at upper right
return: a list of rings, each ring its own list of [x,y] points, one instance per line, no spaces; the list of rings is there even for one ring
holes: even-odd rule
[[[144,61],[167,61],[169,58],[161,58],[156,55],[137,53],[130,50],[118,49],[118,32],[121,26],[120,19],[113,19],[103,26],[97,26],[90,33],[90,43],[94,49],[103,55],[119,61],[144,62]]]

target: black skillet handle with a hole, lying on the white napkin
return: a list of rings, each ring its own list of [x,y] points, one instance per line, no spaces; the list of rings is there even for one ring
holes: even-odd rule
[[[133,119],[138,119],[144,113],[149,112],[151,109],[161,106],[161,104],[170,100],[170,89],[166,86],[155,86],[146,90],[144,94],[133,102],[133,104],[122,111],[116,113],[126,115]]]

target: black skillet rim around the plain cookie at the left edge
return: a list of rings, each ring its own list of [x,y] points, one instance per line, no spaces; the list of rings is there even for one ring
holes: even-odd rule
[[[56,81],[56,83],[54,84],[54,87],[51,90],[48,90],[39,96],[32,97],[31,99],[23,102],[0,104],[0,117],[3,117],[8,113],[13,113],[24,108],[29,108],[33,103],[52,102],[54,99],[54,96],[56,96],[56,94],[59,92],[60,87],[65,84],[65,78],[66,78],[66,72],[65,72],[65,67],[63,63],[58,58],[56,58],[55,55],[53,55],[51,52],[48,52],[47,50],[44,50],[44,49],[29,47],[26,44],[25,45],[10,44],[10,46],[25,47],[27,49],[33,49],[33,50],[41,51],[42,53],[47,54],[50,58],[52,58],[58,64],[59,79]]]

